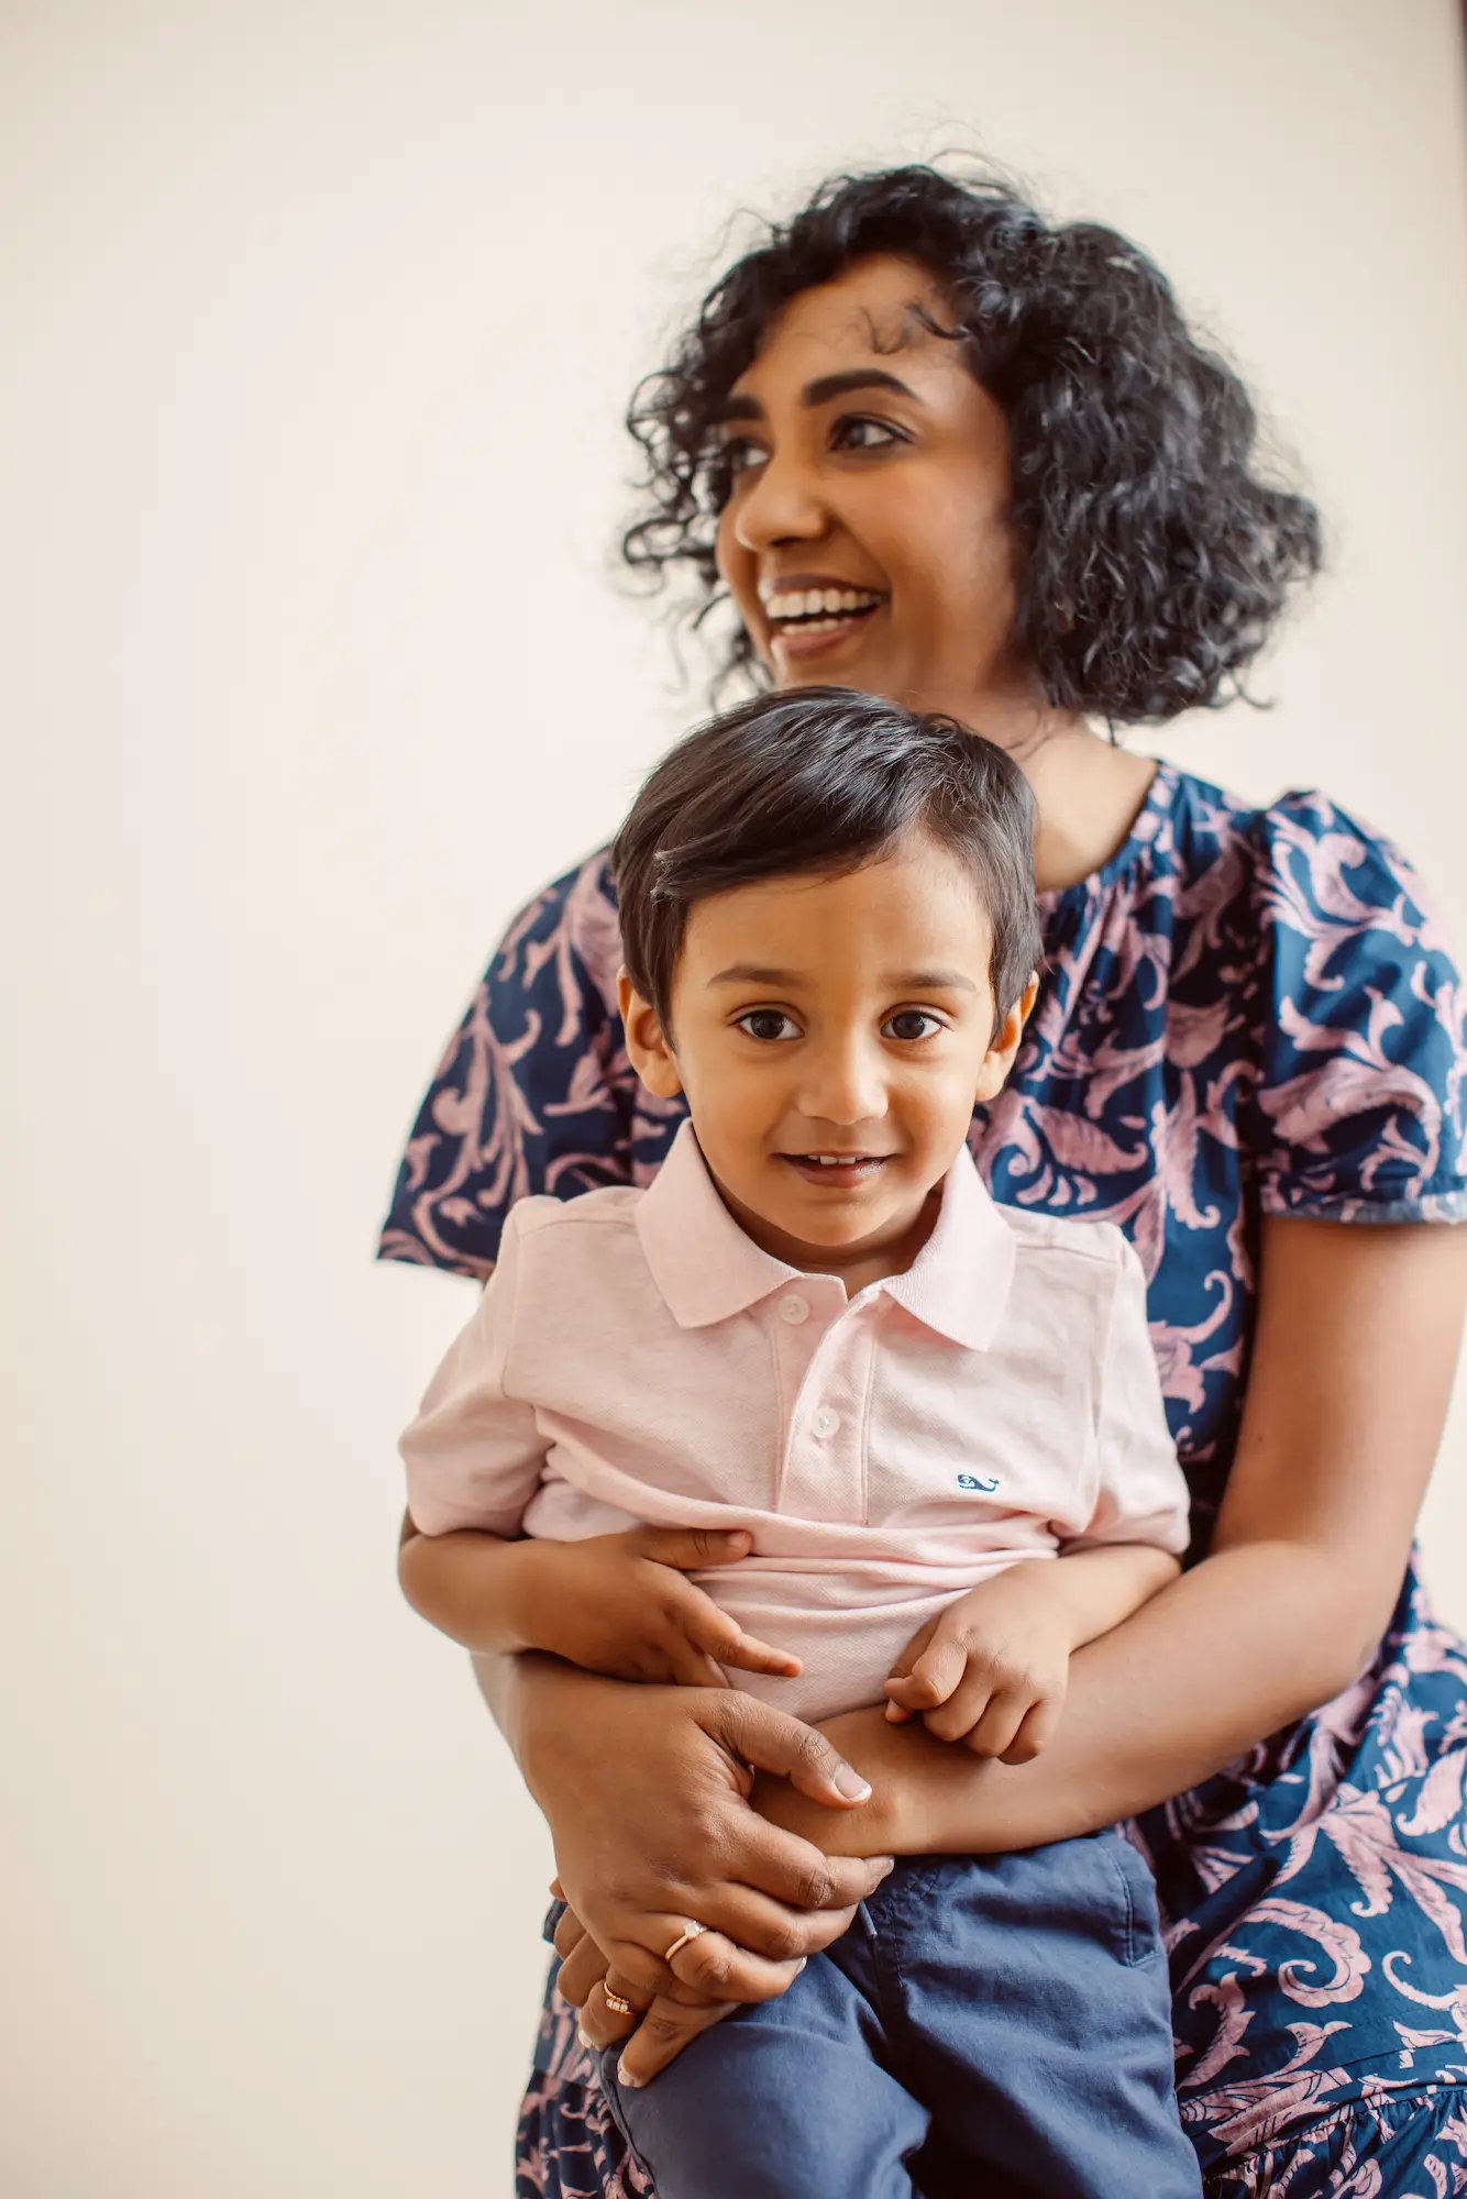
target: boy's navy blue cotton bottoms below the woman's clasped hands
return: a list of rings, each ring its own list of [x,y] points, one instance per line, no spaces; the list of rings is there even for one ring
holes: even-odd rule
[[[1199,2199],[1150,1871],[1115,1832],[908,1856],[776,2001],[611,2113],[658,2199]]]

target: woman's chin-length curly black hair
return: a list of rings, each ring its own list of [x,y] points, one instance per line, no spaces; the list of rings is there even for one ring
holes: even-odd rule
[[[1157,723],[1232,701],[1291,583],[1320,570],[1313,504],[1256,471],[1247,389],[1188,330],[1166,277],[1113,229],[1051,224],[1005,183],[933,167],[834,176],[708,292],[633,394],[649,508],[622,556],[691,574],[695,625],[728,477],[721,400],[774,314],[856,259],[919,262],[974,378],[1010,422],[1016,642],[1062,708]],[[743,627],[730,673],[759,679]]]

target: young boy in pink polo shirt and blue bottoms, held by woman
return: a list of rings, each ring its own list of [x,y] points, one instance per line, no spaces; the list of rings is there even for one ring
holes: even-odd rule
[[[999,1209],[966,1146],[1034,1001],[1027,785],[950,721],[768,697],[651,774],[614,871],[627,1051],[691,1121],[649,1190],[512,1209],[402,1438],[405,1588],[471,1647],[1029,1757],[1188,1493],[1135,1253]],[[750,1548],[699,1588],[647,1526]],[[1117,1834],[897,1863],[787,1992],[644,2089],[614,2063],[660,2199],[1201,2190]]]

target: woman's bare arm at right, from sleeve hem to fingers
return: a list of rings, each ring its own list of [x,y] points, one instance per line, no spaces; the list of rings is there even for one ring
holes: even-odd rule
[[[1060,1728],[996,1764],[891,1726],[823,1731],[873,1786],[829,1845],[1007,1849],[1091,1832],[1212,1777],[1337,1695],[1390,1618],[1452,1392],[1467,1229],[1265,1220],[1258,1330],[1212,1555],[1082,1649]],[[759,1808],[812,1812],[779,1781]]]

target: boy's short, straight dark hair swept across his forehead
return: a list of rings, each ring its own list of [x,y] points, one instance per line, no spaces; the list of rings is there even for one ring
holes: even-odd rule
[[[662,1029],[695,902],[759,877],[856,871],[908,831],[972,869],[994,930],[996,1029],[1043,957],[1034,796],[1001,748],[851,688],[761,695],[686,734],[611,847],[622,959]]]

